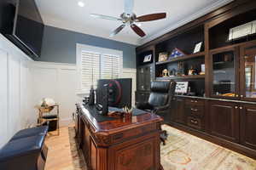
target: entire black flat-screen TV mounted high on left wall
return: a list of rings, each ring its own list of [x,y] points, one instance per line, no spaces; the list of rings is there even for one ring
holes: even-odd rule
[[[44,22],[35,1],[1,1],[3,1],[2,7],[8,7],[5,8],[5,14],[0,13],[0,18],[4,20],[1,33],[32,58],[39,57],[44,35]]]

